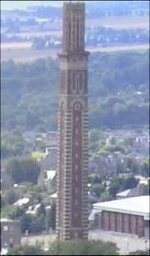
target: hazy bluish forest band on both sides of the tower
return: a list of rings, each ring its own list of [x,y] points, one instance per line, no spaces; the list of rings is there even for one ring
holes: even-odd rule
[[[148,51],[94,53],[89,58],[91,128],[148,124]],[[1,127],[57,129],[58,61],[1,63]]]

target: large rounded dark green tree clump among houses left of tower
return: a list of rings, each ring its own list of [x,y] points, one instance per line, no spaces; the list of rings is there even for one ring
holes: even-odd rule
[[[15,158],[7,163],[6,171],[16,183],[28,181],[36,184],[40,173],[40,165],[31,158]]]

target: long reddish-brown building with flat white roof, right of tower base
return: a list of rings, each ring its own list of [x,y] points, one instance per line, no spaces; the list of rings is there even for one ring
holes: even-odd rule
[[[101,230],[149,238],[150,197],[130,197],[94,203],[89,221]]]

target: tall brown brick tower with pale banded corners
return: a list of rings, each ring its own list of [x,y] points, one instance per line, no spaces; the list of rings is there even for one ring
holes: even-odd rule
[[[63,7],[60,62],[56,232],[58,239],[88,237],[88,56],[85,4]]]

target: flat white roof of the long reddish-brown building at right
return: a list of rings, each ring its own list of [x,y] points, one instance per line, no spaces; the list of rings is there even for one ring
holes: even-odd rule
[[[109,211],[109,212],[121,212],[133,215],[142,215],[145,220],[149,220],[150,212],[150,197],[130,197],[121,200],[112,200],[102,203],[94,203],[93,209]]]

